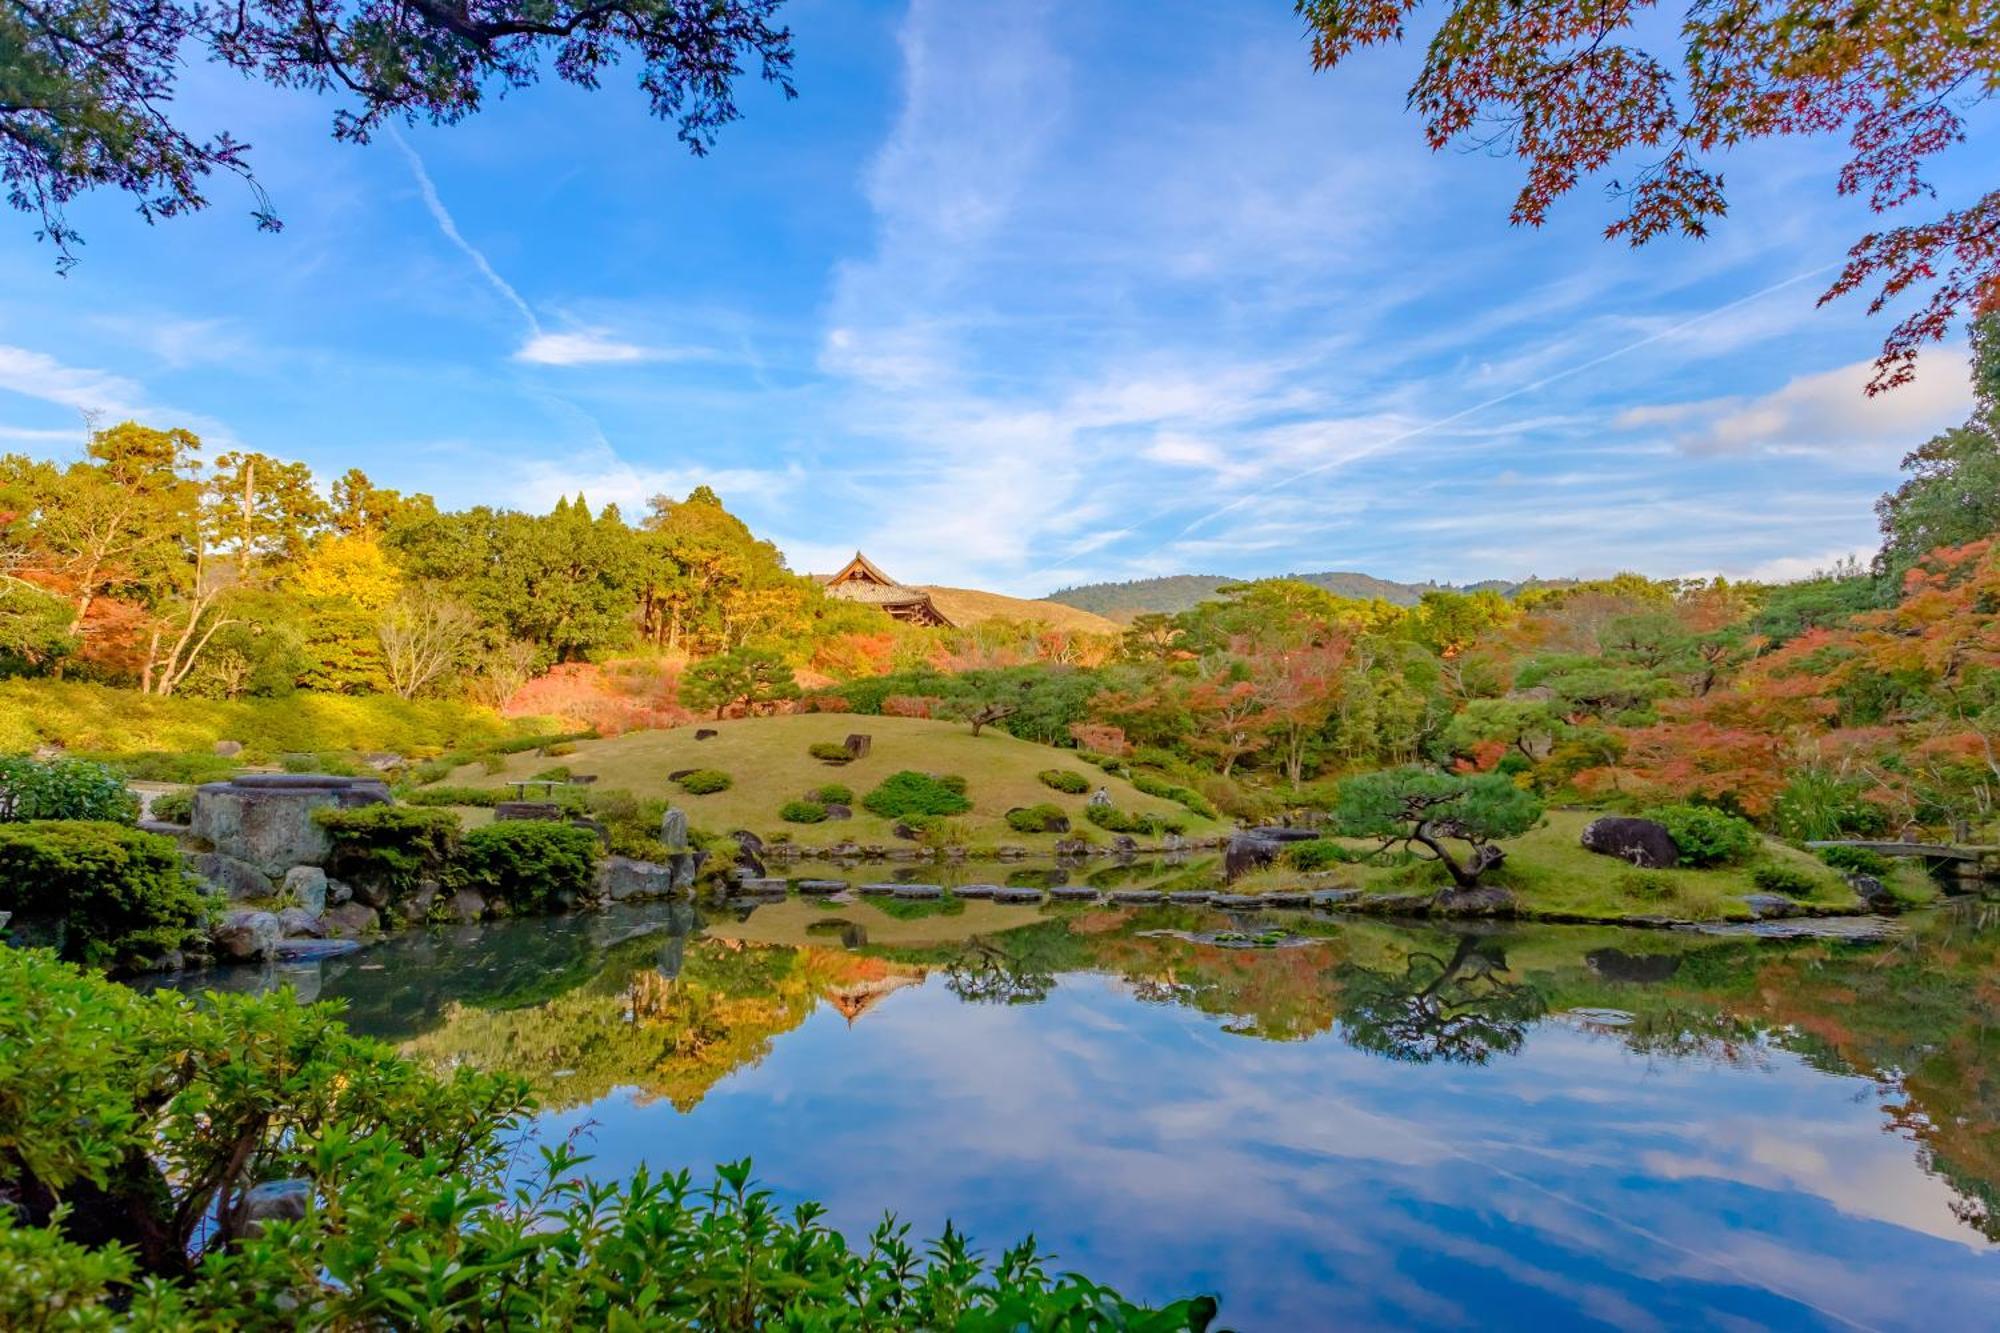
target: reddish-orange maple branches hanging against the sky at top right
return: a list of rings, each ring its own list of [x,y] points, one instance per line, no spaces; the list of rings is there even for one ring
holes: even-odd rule
[[[1422,0],[1298,0],[1312,62],[1400,42]],[[1704,236],[1728,204],[1716,158],[1738,144],[1846,134],[1840,194],[1890,212],[1936,190],[1924,168],[1966,140],[1966,116],[2000,92],[2000,10],[1934,0],[1688,0],[1676,50],[1634,32],[1630,0],[1450,0],[1410,88],[1432,148],[1510,152],[1528,178],[1514,222],[1540,226],[1584,176],[1622,158],[1624,212],[1606,228],[1644,244]],[[2000,188],[1928,222],[1870,232],[1822,302],[1874,286],[1870,314],[1928,298],[1890,332],[1868,392],[1904,384],[1924,342],[2000,296]]]

